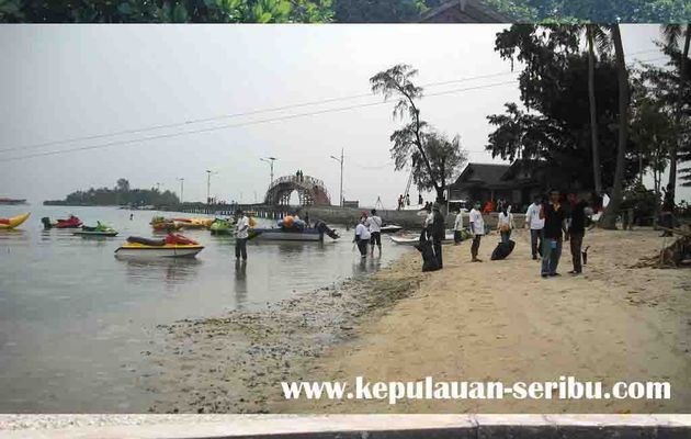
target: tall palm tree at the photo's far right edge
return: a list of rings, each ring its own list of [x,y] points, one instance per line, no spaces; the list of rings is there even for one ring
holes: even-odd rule
[[[681,63],[679,67],[679,101],[677,103],[677,109],[675,111],[675,126],[680,126],[682,110],[683,110],[683,93],[682,87],[684,87],[687,82],[687,75],[689,74],[689,45],[691,45],[691,24],[684,26],[681,24],[666,24],[662,25],[662,35],[665,36],[665,46],[671,54],[679,49],[679,41],[684,40],[683,49],[681,52]],[[671,145],[671,150],[669,151],[669,182],[668,182],[668,191],[670,192],[671,200],[675,200],[675,189],[677,188],[677,162],[679,159],[679,149],[681,146],[682,136],[679,135],[677,137],[677,142],[673,142]]]

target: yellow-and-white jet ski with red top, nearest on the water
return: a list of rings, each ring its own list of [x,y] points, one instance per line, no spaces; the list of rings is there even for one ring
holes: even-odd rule
[[[163,239],[138,236],[127,238],[127,244],[115,250],[117,258],[194,258],[204,246],[182,235],[169,234]]]

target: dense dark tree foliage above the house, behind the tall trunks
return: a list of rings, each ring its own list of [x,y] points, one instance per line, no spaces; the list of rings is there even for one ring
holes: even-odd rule
[[[581,53],[578,26],[513,25],[497,35],[496,49],[525,68],[519,77],[523,108],[506,104],[489,115],[496,127],[487,149],[492,156],[543,168],[545,184],[592,189],[592,147],[588,100],[588,54]],[[604,187],[614,181],[618,150],[616,66],[604,53],[594,69],[600,161]],[[637,169],[636,147],[627,148],[625,177]]]

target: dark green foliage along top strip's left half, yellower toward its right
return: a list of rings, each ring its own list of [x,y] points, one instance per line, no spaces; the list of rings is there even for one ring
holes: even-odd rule
[[[0,0],[0,23],[313,23],[331,18],[331,0]]]

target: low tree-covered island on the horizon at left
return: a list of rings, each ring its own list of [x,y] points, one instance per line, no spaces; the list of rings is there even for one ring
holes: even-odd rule
[[[65,200],[47,200],[44,205],[72,205],[72,206],[171,206],[180,204],[178,195],[171,191],[151,189],[131,189],[129,181],[118,179],[115,188],[91,188],[87,191],[76,191]]]

